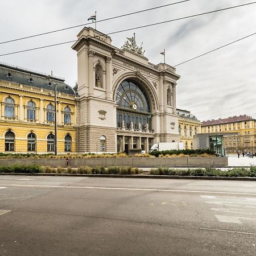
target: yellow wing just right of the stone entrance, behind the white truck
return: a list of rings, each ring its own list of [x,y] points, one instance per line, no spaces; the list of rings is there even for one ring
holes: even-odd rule
[[[200,133],[200,121],[188,110],[177,109],[179,115],[180,142],[185,149],[193,149],[193,137]]]

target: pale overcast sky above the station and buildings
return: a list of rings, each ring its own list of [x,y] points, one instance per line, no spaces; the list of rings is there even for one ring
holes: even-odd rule
[[[133,11],[178,2],[123,0],[9,0],[1,4],[0,42],[87,23],[97,11],[105,19]],[[146,13],[97,24],[104,33],[176,19],[253,0],[191,0]],[[143,42],[144,55],[151,63],[182,61],[256,32],[256,4],[218,13],[183,19],[157,26],[111,35],[112,44],[121,47],[126,37],[136,33]],[[91,25],[93,26],[93,25]],[[18,42],[0,44],[0,55],[48,44],[76,40],[82,27]],[[1,56],[0,61],[64,77],[74,86],[77,57],[72,43],[31,52]],[[177,108],[190,110],[201,121],[247,114],[256,118],[256,35],[176,67]]]

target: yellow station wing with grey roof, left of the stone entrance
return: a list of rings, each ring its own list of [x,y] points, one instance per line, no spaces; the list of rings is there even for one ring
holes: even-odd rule
[[[75,91],[57,83],[57,149],[76,151]],[[53,84],[46,75],[0,64],[0,152],[41,154],[55,150]]]

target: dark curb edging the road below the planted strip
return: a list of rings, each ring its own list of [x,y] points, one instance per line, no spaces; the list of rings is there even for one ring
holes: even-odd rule
[[[0,175],[23,176],[67,176],[67,177],[126,177],[135,179],[189,179],[189,180],[249,180],[256,181],[256,177],[224,177],[224,176],[171,176],[171,175],[126,175],[126,174],[26,174],[26,173],[0,173]]]

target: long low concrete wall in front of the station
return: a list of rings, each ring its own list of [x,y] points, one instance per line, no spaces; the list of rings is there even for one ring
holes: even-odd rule
[[[38,164],[40,166],[66,166],[66,159],[0,159],[0,166]],[[71,158],[69,166],[228,166],[228,158]]]

